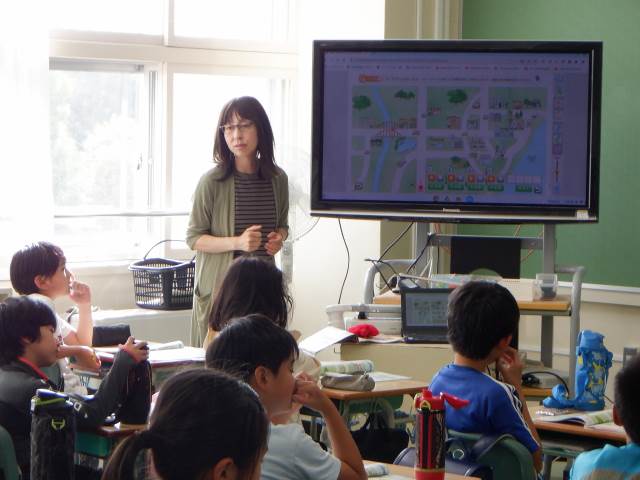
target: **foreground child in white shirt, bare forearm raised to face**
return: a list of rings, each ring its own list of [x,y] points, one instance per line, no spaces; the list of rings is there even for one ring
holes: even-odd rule
[[[288,418],[293,402],[324,417],[335,456],[314,442],[301,425],[273,424],[260,478],[365,479],[358,447],[333,402],[309,377],[293,377],[297,355],[291,334],[263,315],[230,322],[207,349],[207,367],[239,375],[258,393],[272,423]]]

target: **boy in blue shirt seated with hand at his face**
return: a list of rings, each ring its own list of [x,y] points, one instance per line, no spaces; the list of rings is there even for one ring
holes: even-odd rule
[[[447,428],[466,433],[513,435],[542,468],[540,437],[522,393],[522,361],[510,347],[520,311],[509,291],[489,282],[469,282],[449,299],[448,337],[455,353],[431,381],[431,391],[470,401],[459,410],[446,407]],[[485,373],[496,364],[502,381]]]

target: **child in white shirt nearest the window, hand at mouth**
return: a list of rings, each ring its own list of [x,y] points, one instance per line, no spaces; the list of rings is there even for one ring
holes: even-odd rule
[[[93,337],[91,317],[91,289],[76,281],[67,268],[64,253],[48,242],[25,246],[13,255],[9,267],[13,289],[21,295],[47,304],[55,312],[54,300],[68,296],[78,305],[78,328],[74,328],[56,314],[56,332],[60,348],[58,362],[53,369],[46,369],[49,377],[64,378],[65,392],[86,395],[80,378],[69,368],[67,357],[89,369],[97,369],[100,361],[90,348]],[[59,375],[58,375],[59,370]]]

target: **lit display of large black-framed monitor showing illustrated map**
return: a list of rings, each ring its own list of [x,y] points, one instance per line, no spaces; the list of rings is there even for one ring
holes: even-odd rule
[[[588,205],[589,62],[325,51],[321,199]]]

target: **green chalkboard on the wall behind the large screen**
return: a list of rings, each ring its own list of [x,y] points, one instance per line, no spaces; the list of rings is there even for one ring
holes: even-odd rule
[[[465,39],[604,43],[600,222],[558,225],[556,259],[585,265],[587,283],[640,287],[640,1],[465,0],[463,15]],[[541,230],[527,226],[520,234]],[[465,225],[459,232],[505,235],[514,227]],[[531,255],[523,276],[541,263]]]

